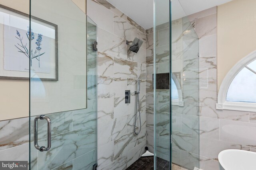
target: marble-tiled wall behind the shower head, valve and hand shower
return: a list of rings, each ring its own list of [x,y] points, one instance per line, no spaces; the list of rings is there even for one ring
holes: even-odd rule
[[[122,170],[146,146],[146,30],[106,0],[87,0],[87,15],[98,25],[98,170]],[[126,45],[135,37],[144,41],[138,53]],[[134,135],[137,79],[142,129]]]

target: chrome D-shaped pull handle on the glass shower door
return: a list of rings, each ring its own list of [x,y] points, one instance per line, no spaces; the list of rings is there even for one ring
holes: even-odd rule
[[[44,147],[44,146],[40,147],[38,145],[38,128],[37,128],[38,119],[40,119],[40,120],[46,119],[46,121],[47,121],[47,147]],[[35,146],[35,148],[40,150],[41,152],[49,150],[51,148],[51,143],[52,143],[51,135],[52,135],[51,134],[51,119],[46,115],[36,116],[34,119],[34,146]]]

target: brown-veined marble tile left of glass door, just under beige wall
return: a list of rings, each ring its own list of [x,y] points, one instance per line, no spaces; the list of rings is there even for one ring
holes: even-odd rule
[[[29,142],[29,118],[0,121],[0,150]]]

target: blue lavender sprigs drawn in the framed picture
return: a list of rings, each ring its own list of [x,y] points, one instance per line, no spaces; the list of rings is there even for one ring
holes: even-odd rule
[[[31,32],[31,35],[30,35],[30,32]],[[33,52],[33,49],[31,49],[31,57],[30,57],[30,54],[29,54],[29,51],[28,51],[28,48],[27,48],[27,44],[23,44],[22,40],[23,40],[23,37],[21,37],[20,35],[20,32],[18,30],[16,30],[16,34],[18,36],[15,36],[19,41],[20,43],[17,43],[17,45],[15,45],[15,47],[18,49],[18,52],[20,53],[23,53],[26,57],[28,57],[28,59],[30,59],[30,66],[32,66],[32,59],[36,59],[38,60],[38,66],[40,68],[40,56],[44,55],[45,53],[40,53],[42,47],[42,34],[38,34],[38,37],[36,39],[36,49],[34,50]],[[29,27],[28,27],[28,31],[26,33],[27,35],[27,38],[28,40],[31,40],[31,43],[32,41],[35,39],[35,35],[34,35],[34,32],[32,32],[32,30],[30,31],[29,30]]]

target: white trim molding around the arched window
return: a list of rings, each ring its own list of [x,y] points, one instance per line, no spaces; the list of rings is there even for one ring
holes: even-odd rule
[[[239,110],[239,111],[256,111],[256,104],[255,103],[249,103],[249,102],[228,102],[226,101],[228,88],[230,86],[230,83],[247,64],[251,63],[256,59],[256,51],[250,53],[238,63],[236,63],[231,70],[228,72],[228,74],[225,76],[224,80],[222,81],[218,93],[218,101],[216,104],[216,109],[227,109],[227,110]]]

